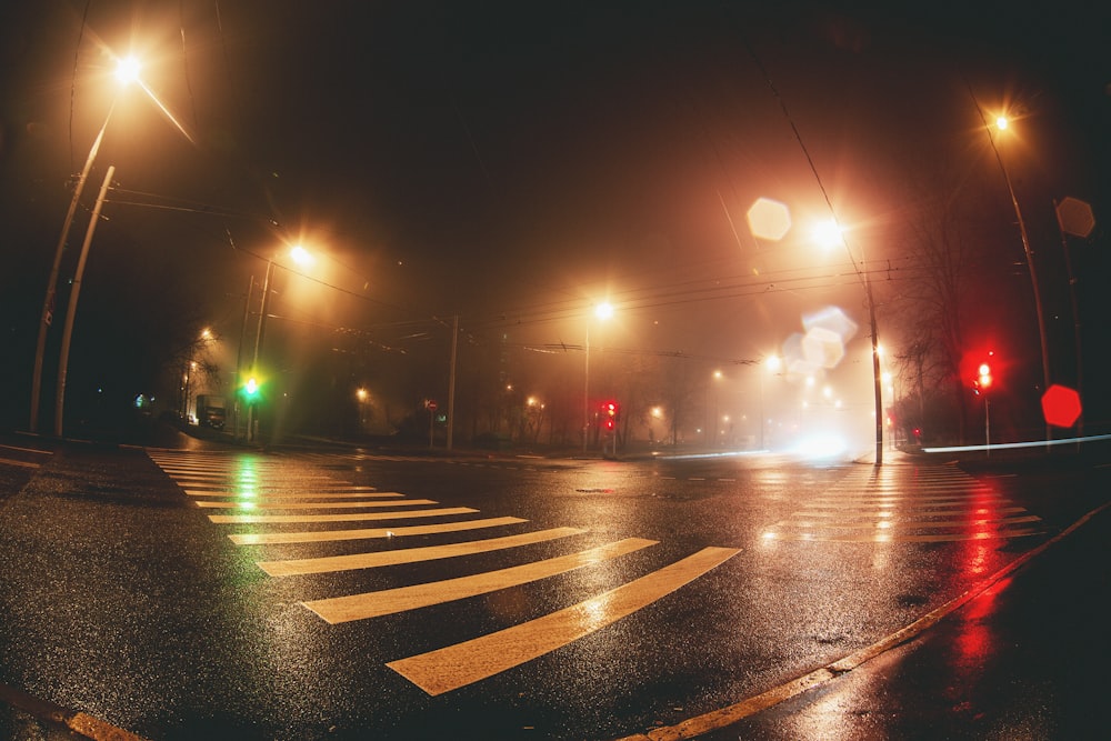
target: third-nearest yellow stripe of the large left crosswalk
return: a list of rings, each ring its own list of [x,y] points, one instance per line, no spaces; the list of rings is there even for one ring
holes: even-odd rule
[[[398,565],[400,563],[417,563],[450,559],[473,553],[488,553],[508,548],[519,548],[532,543],[542,543],[569,535],[581,535],[587,532],[578,528],[552,528],[538,530],[519,535],[490,538],[488,540],[470,540],[447,545],[429,545],[427,548],[406,548],[398,551],[381,551],[377,553],[351,553],[348,555],[328,555],[316,559],[290,559],[288,561],[256,561],[258,567],[271,577],[293,577],[308,573],[328,573],[332,571],[350,571],[354,569],[377,569],[379,567]]]

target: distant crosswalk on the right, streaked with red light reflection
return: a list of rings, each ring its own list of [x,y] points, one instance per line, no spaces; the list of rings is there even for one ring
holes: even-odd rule
[[[767,528],[768,541],[947,542],[1043,533],[1035,514],[950,465],[859,468]]]

